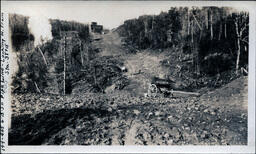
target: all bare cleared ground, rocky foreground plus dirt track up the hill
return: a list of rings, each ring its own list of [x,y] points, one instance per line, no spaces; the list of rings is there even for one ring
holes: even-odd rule
[[[94,42],[128,68],[130,85],[106,94],[16,94],[10,145],[245,145],[247,77],[200,97],[142,97],[165,75],[161,54],[127,54],[116,33]]]

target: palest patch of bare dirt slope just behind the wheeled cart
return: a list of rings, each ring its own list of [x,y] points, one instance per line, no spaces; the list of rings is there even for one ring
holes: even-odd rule
[[[141,51],[131,55],[125,61],[128,69],[126,75],[131,84],[125,89],[137,95],[147,92],[152,77],[163,77],[168,72],[161,68],[162,55],[153,55],[147,51]]]

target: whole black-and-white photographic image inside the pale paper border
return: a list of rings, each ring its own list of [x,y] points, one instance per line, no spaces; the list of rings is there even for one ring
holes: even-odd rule
[[[255,147],[246,5],[4,4],[8,146]]]

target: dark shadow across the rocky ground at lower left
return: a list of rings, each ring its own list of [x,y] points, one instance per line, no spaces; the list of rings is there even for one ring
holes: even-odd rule
[[[104,117],[110,113],[101,109],[75,108],[48,110],[36,115],[26,114],[12,117],[9,145],[41,145],[45,139],[63,128],[75,127],[77,119],[93,119],[92,114]]]

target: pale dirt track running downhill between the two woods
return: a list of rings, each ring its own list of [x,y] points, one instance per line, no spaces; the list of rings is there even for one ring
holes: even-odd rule
[[[127,68],[125,75],[130,80],[130,84],[124,89],[126,92],[143,96],[152,77],[164,77],[167,74],[160,66],[160,61],[165,58],[164,54],[152,54],[146,50],[131,54],[122,46],[117,32],[94,37],[101,38],[94,43],[102,50],[100,56],[118,56],[123,61]]]

